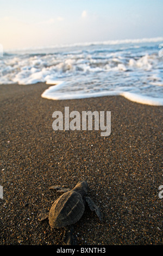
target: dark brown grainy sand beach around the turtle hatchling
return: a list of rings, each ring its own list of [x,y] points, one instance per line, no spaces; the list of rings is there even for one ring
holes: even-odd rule
[[[63,245],[64,229],[37,219],[59,197],[48,188],[73,188],[81,179],[103,213],[86,207],[74,224],[79,245],[162,245],[162,107],[122,96],[47,100],[44,83],[0,87],[1,245]],[[111,135],[53,131],[52,113],[111,111]]]

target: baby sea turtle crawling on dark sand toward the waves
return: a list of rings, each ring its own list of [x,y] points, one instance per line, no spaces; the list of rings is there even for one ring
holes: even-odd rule
[[[50,187],[50,189],[64,192],[64,194],[53,203],[49,212],[41,211],[39,220],[42,221],[48,218],[51,229],[67,227],[67,225],[72,225],[80,220],[85,210],[85,202],[87,202],[91,211],[96,212],[99,220],[102,220],[101,212],[97,205],[90,197],[86,197],[87,188],[88,185],[85,180],[79,181],[72,190],[60,186]],[[76,244],[72,227],[70,230],[65,229],[64,242],[67,245]]]

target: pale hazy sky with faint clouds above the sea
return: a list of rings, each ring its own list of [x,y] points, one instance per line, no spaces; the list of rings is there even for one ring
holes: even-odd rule
[[[5,49],[162,36],[162,0],[0,0]]]

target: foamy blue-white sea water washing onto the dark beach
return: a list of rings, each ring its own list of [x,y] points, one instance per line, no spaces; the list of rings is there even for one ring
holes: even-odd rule
[[[53,100],[122,95],[163,105],[163,38],[116,40],[10,50],[0,58],[0,83],[51,85]]]

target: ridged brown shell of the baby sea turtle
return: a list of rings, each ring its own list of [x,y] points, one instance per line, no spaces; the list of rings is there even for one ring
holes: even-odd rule
[[[85,210],[81,194],[68,191],[62,194],[49,211],[49,225],[51,228],[66,227],[79,221]]]

